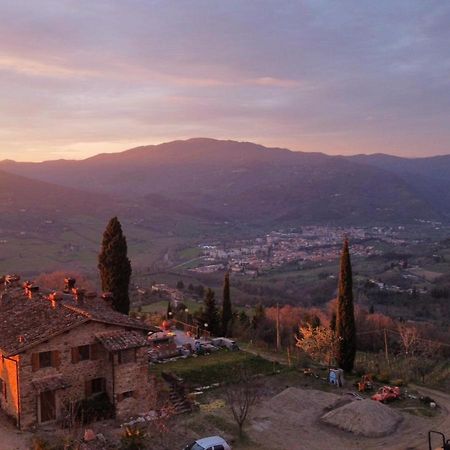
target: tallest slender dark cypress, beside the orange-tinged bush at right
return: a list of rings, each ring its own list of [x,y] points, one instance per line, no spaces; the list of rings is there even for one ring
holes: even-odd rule
[[[344,239],[339,273],[339,294],[336,314],[337,363],[346,372],[353,370],[356,355],[355,314],[353,310],[353,279],[348,239]]]

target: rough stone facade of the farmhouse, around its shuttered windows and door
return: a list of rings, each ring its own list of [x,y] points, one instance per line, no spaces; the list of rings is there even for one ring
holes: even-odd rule
[[[106,380],[106,392],[117,407],[121,417],[133,415],[134,411],[149,411],[155,398],[154,385],[148,383],[146,348],[138,349],[136,363],[118,365],[114,355],[114,369],[111,355],[102,348],[99,359],[72,363],[72,347],[95,344],[95,334],[104,331],[123,329],[115,325],[88,322],[68,332],[55,336],[45,343],[26,351],[20,357],[21,386],[21,425],[22,429],[34,427],[39,423],[39,393],[33,381],[62,374],[70,387],[56,391],[56,415],[60,417],[64,404],[85,398],[86,381],[94,378]],[[46,367],[33,371],[32,354],[45,351],[59,352],[59,367]],[[113,381],[114,372],[114,381]],[[116,402],[117,394],[136,391],[135,397]]]

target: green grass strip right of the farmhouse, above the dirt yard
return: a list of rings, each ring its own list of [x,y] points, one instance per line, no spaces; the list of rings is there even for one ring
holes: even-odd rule
[[[190,386],[207,386],[213,383],[232,381],[236,376],[237,367],[244,367],[254,375],[271,375],[283,369],[280,364],[251,353],[219,350],[211,355],[151,365],[150,372],[156,375],[160,375],[162,372],[172,372]]]

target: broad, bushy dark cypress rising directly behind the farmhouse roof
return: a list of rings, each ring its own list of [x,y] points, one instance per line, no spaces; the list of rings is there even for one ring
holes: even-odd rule
[[[113,294],[113,308],[123,314],[130,311],[129,286],[131,263],[127,256],[127,240],[122,226],[113,217],[103,234],[103,242],[98,256],[98,269],[104,292]]]

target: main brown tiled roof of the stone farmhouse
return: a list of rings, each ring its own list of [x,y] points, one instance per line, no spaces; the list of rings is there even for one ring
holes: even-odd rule
[[[71,295],[64,295],[53,306],[44,293],[29,299],[19,287],[0,291],[0,351],[4,356],[19,354],[88,322],[146,332],[159,331],[156,327],[114,311],[101,298],[77,303]]]

